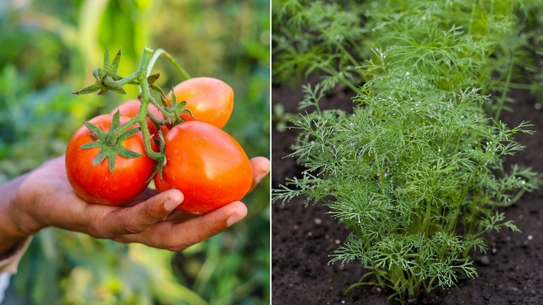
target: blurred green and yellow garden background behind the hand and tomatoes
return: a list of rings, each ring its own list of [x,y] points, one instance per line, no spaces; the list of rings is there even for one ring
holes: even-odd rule
[[[269,158],[269,0],[1,0],[0,183],[62,155],[81,120],[137,95],[71,95],[93,83],[105,47],[120,75],[143,47],[162,47],[193,76],[234,88],[223,128],[249,157]],[[159,85],[181,81],[165,58]],[[269,304],[269,178],[246,196],[248,217],[171,253],[42,230],[3,304]]]

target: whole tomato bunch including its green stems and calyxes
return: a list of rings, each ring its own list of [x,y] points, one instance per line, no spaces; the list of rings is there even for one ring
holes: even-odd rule
[[[117,72],[120,56],[119,51],[110,61],[106,49],[103,68],[93,71],[95,84],[74,92],[126,94],[123,86],[129,84],[139,86],[140,91],[137,101],[127,101],[114,114],[84,122],[72,136],[66,169],[77,194],[94,203],[123,204],[141,193],[154,178],[158,191],[175,188],[183,192],[184,208],[178,209],[186,212],[202,214],[241,200],[251,186],[251,163],[239,143],[221,130],[233,110],[233,89],[212,77],[191,78],[168,52],[148,47],[138,70],[122,77]],[[159,73],[150,74],[159,56],[165,56],[184,79],[168,95],[156,84]],[[151,95],[152,91],[159,97]],[[137,111],[134,107],[138,107]],[[150,107],[158,112],[152,114]],[[126,116],[121,116],[121,110]],[[104,121],[108,118],[109,122]],[[180,125],[186,120],[196,122]],[[145,154],[131,150],[129,139],[132,148],[141,150],[143,146]],[[75,147],[74,143],[80,144]],[[107,165],[102,164],[106,159]],[[115,169],[116,162],[123,162],[118,169],[120,174]],[[138,177],[129,177],[130,171]],[[89,177],[96,182],[89,183]]]

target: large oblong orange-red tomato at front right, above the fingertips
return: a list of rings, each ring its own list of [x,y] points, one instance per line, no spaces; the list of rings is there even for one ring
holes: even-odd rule
[[[162,192],[180,189],[178,209],[195,214],[239,201],[251,187],[249,158],[232,136],[213,125],[192,120],[173,127],[165,138],[166,165],[155,175]]]

